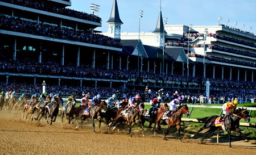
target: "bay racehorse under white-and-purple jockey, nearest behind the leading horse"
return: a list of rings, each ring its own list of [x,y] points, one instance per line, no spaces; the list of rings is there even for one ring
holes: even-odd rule
[[[181,135],[180,135],[180,123],[181,123],[181,116],[185,114],[185,116],[189,116],[188,106],[187,104],[183,104],[180,106],[179,110],[173,112],[170,116],[168,116],[168,119],[164,119],[164,122],[168,124],[168,128],[166,131],[166,134],[164,135],[164,140],[167,140],[166,136],[168,135],[168,132],[170,129],[174,126],[177,128],[178,135],[180,137],[181,141]],[[159,122],[156,122],[157,125],[159,125]],[[158,126],[157,126],[158,127]],[[155,128],[155,132],[158,131],[158,128]]]

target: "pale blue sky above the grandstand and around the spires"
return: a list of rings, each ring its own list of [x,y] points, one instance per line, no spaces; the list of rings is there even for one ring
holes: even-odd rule
[[[102,27],[96,30],[107,32],[113,0],[72,0],[68,8],[92,14],[91,3],[100,6],[100,11],[94,14],[102,19]],[[155,30],[160,0],[117,0],[117,4],[123,22],[121,32],[139,32],[139,10],[143,11],[140,31]],[[161,6],[163,18],[168,18],[167,25],[217,26],[221,16],[221,24],[229,19],[228,26],[234,27],[237,22],[236,28],[256,34],[256,0],[162,0]]]

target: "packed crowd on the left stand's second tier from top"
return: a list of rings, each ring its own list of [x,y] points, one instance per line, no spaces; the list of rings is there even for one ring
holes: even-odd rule
[[[73,30],[71,28],[52,26],[31,20],[22,20],[19,18],[11,18],[5,15],[0,16],[0,29],[21,33],[29,33],[32,35],[47,36],[56,39],[79,41],[82,43],[105,45],[110,47],[121,48],[122,44],[120,39],[114,39],[112,37],[89,33],[84,30]]]

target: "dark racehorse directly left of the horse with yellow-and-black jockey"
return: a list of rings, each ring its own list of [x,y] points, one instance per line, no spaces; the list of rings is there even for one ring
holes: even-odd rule
[[[52,101],[51,105],[49,108],[45,108],[44,110],[44,118],[46,119],[46,123],[48,124],[48,119],[47,119],[47,113],[49,113],[49,118],[50,118],[50,125],[52,125],[52,122],[55,122],[57,115],[59,113],[59,105],[63,103],[62,98],[56,98],[55,100]],[[51,111],[51,112],[49,112]]]

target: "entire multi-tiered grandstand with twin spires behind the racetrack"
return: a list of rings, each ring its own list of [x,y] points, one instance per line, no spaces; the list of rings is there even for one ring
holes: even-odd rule
[[[71,4],[0,0],[1,82],[200,94],[208,79],[214,95],[232,88],[255,96],[253,33],[223,25],[164,25],[161,10],[155,31],[121,33],[116,0],[108,33],[102,33],[95,30],[100,17],[67,9]]]

